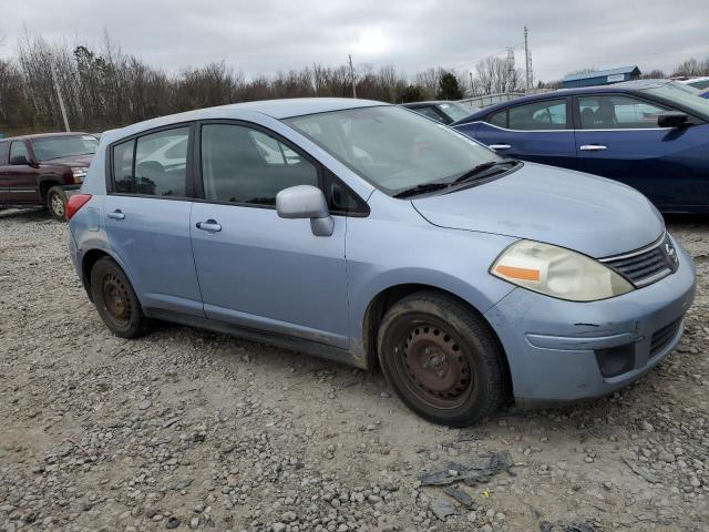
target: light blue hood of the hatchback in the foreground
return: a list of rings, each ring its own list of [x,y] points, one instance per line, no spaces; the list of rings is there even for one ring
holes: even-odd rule
[[[412,203],[434,225],[545,242],[596,258],[638,249],[665,231],[658,211],[634,188],[534,163]]]

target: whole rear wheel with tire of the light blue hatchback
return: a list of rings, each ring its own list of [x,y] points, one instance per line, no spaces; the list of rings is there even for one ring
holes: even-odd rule
[[[91,269],[91,296],[99,315],[121,338],[135,338],[145,330],[146,318],[127,276],[110,257]]]

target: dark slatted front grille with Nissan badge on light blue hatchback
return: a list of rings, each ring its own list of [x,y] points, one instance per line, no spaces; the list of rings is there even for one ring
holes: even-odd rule
[[[636,288],[660,280],[677,270],[677,250],[666,234],[655,244],[637,252],[603,258],[600,260]]]

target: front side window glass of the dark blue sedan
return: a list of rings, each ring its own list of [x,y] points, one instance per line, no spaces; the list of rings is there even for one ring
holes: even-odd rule
[[[657,127],[665,109],[623,95],[582,96],[578,112],[584,130],[637,130]]]

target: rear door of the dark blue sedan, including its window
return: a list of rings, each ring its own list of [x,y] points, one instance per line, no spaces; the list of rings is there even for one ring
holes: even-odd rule
[[[567,98],[511,105],[487,115],[473,137],[504,156],[575,168],[568,105]],[[459,129],[464,133],[466,125]]]

